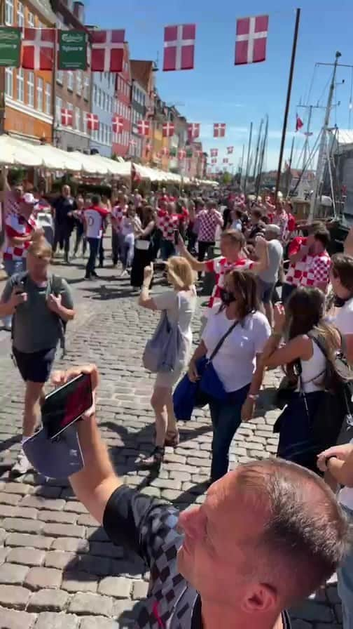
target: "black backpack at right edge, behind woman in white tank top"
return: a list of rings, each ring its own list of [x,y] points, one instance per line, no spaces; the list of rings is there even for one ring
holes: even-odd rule
[[[324,395],[312,422],[313,437],[321,450],[337,443],[345,422],[353,416],[353,371],[342,351],[332,361],[328,356],[325,339],[314,333],[308,335],[326,358]]]

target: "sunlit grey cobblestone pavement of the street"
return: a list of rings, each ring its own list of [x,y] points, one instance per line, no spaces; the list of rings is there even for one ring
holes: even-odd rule
[[[137,455],[153,440],[153,378],[141,366],[141,350],[155,314],[139,309],[128,281],[114,279],[109,268],[94,283],[82,281],[82,264],[56,270],[69,279],[78,309],[69,325],[64,364],[99,366],[98,417],[116,470],[125,482],[181,509],[202,501],[212,440],[206,411],[181,425],[181,443],[169,449],[157,478],[146,484],[146,472],[135,471]],[[277,382],[272,373],[267,388]],[[21,381],[9,357],[8,336],[0,332],[0,628],[130,628],[147,591],[144,565],[109,543],[66,482],[45,482],[32,473],[18,482],[8,479],[20,447],[21,412]],[[276,416],[264,395],[254,421],[237,431],[232,466],[275,453]],[[291,615],[294,629],[340,628],[335,579]]]

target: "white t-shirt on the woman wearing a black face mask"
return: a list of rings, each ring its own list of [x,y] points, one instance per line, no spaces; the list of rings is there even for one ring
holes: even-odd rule
[[[219,305],[212,308],[202,334],[207,357],[233,323],[227,319],[225,310],[219,312]],[[237,324],[226,338],[212,363],[227,392],[237,391],[251,383],[256,368],[256,354],[261,354],[270,333],[270,324],[265,315],[254,312]]]

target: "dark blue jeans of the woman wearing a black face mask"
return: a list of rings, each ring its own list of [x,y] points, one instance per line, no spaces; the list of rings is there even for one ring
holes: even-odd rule
[[[228,393],[226,402],[209,403],[214,436],[212,440],[211,480],[215,482],[228,472],[229,449],[241,422],[242,405],[250,385]]]

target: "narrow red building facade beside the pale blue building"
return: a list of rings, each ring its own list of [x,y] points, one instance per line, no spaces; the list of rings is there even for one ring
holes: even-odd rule
[[[124,45],[123,72],[116,74],[115,113],[123,118],[123,131],[113,133],[113,154],[118,157],[128,157],[131,139],[131,69],[130,51],[127,43]]]

